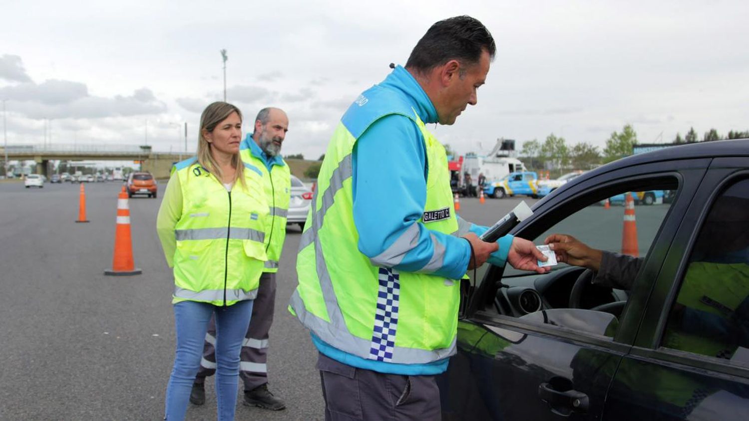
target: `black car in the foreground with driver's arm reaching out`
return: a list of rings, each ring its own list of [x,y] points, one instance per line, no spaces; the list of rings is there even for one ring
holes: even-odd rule
[[[623,212],[598,202],[673,192],[635,208],[640,268],[627,290],[565,264],[490,265],[464,282],[457,354],[437,378],[443,420],[744,419],[748,168],[749,139],[687,144],[596,168],[535,203],[512,234],[620,251]]]

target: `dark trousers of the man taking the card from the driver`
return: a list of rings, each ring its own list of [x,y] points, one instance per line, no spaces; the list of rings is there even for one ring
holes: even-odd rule
[[[318,354],[325,420],[440,420],[434,375],[357,369]]]

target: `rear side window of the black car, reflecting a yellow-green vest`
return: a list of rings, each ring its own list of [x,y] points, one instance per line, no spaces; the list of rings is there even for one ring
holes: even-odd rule
[[[661,345],[749,366],[749,179],[712,204]]]

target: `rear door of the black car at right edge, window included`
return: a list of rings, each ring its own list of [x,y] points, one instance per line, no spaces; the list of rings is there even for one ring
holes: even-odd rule
[[[606,420],[749,414],[749,159],[718,158],[664,259]]]

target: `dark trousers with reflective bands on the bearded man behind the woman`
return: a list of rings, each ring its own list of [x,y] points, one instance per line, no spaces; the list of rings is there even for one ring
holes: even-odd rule
[[[258,296],[252,304],[252,319],[242,343],[239,376],[244,382],[244,390],[252,390],[268,382],[268,332],[273,323],[273,310],[276,307],[276,274],[264,272],[260,277]],[[213,318],[208,325],[203,345],[203,358],[195,383],[203,383],[205,378],[216,372],[216,323]]]

